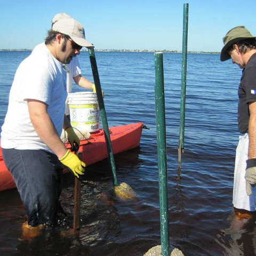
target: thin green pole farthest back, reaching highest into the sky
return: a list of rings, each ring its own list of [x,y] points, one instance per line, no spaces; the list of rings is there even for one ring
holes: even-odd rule
[[[187,45],[188,45],[188,4],[183,5],[182,71],[180,97],[180,135],[178,146],[178,169],[181,169],[181,153],[184,153],[185,104],[187,82]]]

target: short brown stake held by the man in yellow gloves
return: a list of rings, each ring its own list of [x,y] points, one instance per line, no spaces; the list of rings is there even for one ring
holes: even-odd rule
[[[78,158],[82,161],[83,153],[76,153]],[[80,228],[80,203],[81,203],[81,181],[75,178],[75,191],[74,191],[74,219],[73,229],[74,231]]]

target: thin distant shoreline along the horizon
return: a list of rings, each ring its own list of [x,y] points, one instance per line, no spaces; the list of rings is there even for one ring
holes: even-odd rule
[[[0,52],[31,52],[32,49],[0,49]],[[87,50],[82,50],[82,52]],[[95,49],[95,52],[167,52],[167,53],[182,53],[181,51],[170,50],[116,50],[116,49]],[[205,54],[220,54],[220,52],[204,52],[204,51],[188,51],[188,53],[205,53]]]

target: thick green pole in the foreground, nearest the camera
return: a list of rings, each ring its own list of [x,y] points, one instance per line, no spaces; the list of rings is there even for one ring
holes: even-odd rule
[[[161,226],[162,255],[169,256],[169,217],[167,197],[167,163],[166,163],[166,128],[165,128],[165,102],[164,102],[164,70],[163,53],[155,55],[155,99],[156,99],[156,134],[158,156],[158,183],[159,206]]]

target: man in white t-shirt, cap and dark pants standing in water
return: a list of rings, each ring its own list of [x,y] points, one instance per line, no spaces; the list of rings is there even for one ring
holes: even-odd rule
[[[67,74],[63,65],[83,46],[93,47],[85,40],[81,23],[61,19],[49,31],[45,46],[23,60],[15,73],[1,147],[25,205],[28,227],[57,222],[62,164],[78,178],[84,174],[85,163],[60,139],[63,128],[69,130],[72,145],[79,145],[65,116]]]

